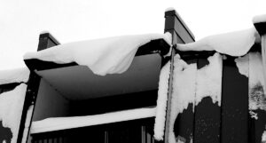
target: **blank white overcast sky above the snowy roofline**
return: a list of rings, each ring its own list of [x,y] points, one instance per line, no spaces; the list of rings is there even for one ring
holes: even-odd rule
[[[50,31],[61,44],[106,36],[163,33],[164,11],[174,7],[196,40],[253,27],[266,0],[0,0],[0,68],[24,66]]]

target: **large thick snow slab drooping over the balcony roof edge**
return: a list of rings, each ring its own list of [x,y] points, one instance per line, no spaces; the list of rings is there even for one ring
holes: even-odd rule
[[[170,45],[171,39],[168,34],[114,36],[60,44],[41,52],[28,52],[24,55],[24,59],[38,59],[59,64],[76,62],[87,66],[97,75],[120,74],[129,68],[138,47],[160,38]]]

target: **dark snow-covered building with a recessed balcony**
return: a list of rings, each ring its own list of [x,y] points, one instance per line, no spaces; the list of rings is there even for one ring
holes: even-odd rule
[[[176,11],[165,12],[165,18],[170,41],[166,34],[77,43],[109,50],[104,51],[107,56],[97,48],[90,52],[90,60],[97,58],[89,68],[79,64],[87,64],[84,58],[74,57],[77,44],[59,44],[51,34],[41,34],[38,52],[25,58],[28,81],[21,78],[0,86],[8,92],[27,84],[14,142],[25,142],[27,134],[27,142],[34,143],[265,141],[265,85],[257,78],[263,77],[262,42],[255,42],[256,32],[194,42]],[[263,40],[261,36],[257,38]],[[123,51],[124,45],[132,46],[129,52]],[[107,59],[110,55],[117,61]],[[16,135],[4,125],[0,132],[6,135],[0,136],[2,142]]]

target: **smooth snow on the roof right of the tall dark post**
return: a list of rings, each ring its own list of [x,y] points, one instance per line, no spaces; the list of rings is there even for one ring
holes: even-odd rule
[[[231,56],[243,56],[255,42],[256,30],[246,30],[207,36],[190,44],[177,44],[180,51],[216,51]]]

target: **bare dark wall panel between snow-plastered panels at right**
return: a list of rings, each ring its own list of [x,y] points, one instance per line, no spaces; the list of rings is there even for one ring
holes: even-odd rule
[[[223,60],[222,143],[248,143],[248,79],[234,60]]]

